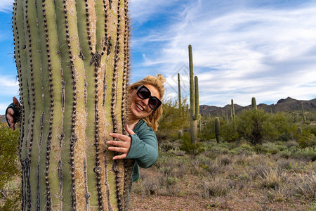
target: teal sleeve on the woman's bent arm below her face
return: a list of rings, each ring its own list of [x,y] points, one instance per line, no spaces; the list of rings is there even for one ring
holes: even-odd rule
[[[145,129],[139,136],[131,136],[131,148],[126,158],[136,159],[137,164],[142,168],[151,167],[158,159],[157,137],[152,129]]]

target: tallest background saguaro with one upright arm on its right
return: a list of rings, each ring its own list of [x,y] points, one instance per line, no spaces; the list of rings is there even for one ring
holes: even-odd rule
[[[190,68],[190,134],[191,142],[197,142],[197,122],[201,118],[199,114],[199,84],[197,76],[193,79],[192,46],[189,45],[189,68]]]

